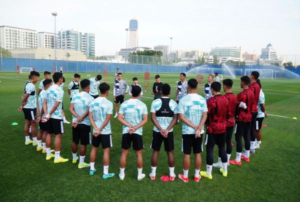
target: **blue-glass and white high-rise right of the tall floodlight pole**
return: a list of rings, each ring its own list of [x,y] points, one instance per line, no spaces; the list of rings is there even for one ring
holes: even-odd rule
[[[76,30],[58,31],[60,48],[78,50],[87,57],[95,55],[95,35]]]

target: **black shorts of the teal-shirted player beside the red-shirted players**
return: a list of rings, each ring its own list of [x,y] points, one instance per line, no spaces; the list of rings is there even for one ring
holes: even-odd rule
[[[202,139],[203,134],[201,134],[200,138],[195,138],[195,134],[182,135],[181,152],[190,155],[192,148],[194,154],[201,153],[203,151]]]

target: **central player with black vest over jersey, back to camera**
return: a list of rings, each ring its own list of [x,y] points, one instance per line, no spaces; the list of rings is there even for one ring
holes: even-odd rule
[[[176,175],[174,174],[174,135],[173,127],[177,123],[177,103],[169,98],[171,87],[165,83],[161,87],[161,97],[153,100],[151,104],[151,121],[154,124],[152,143],[153,149],[151,158],[151,173],[149,177],[155,180],[156,166],[158,162],[158,155],[161,143],[164,144],[164,151],[167,154],[169,166],[169,178],[174,181]]]

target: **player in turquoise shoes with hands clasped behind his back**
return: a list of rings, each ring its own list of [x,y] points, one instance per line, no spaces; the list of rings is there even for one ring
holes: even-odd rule
[[[94,167],[98,147],[101,143],[103,149],[103,179],[111,178],[114,173],[108,173],[109,154],[112,147],[110,118],[112,115],[112,102],[106,99],[109,94],[109,85],[101,83],[99,85],[100,96],[91,102],[89,107],[89,120],[93,127],[92,148],[90,152],[90,171],[92,176],[96,172]]]

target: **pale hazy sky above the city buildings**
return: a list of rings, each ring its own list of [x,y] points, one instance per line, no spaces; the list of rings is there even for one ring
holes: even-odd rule
[[[125,48],[129,20],[138,20],[139,46],[209,51],[241,46],[260,53],[271,43],[279,54],[300,54],[300,0],[5,0],[0,25],[95,34],[96,55]]]

